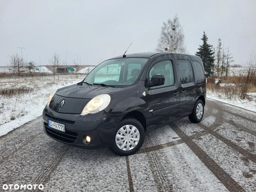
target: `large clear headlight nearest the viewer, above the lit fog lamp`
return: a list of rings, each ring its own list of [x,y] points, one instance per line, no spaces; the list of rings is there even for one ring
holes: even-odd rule
[[[84,107],[81,115],[87,115],[90,113],[98,113],[106,109],[109,105],[111,97],[108,94],[99,95],[90,100]]]

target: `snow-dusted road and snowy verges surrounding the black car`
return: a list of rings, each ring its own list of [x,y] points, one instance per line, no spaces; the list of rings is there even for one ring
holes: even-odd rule
[[[20,127],[0,140],[1,189],[10,184],[43,184],[43,191],[256,190],[256,121],[251,112],[255,99],[246,106],[239,99],[221,98],[248,111],[218,102],[214,100],[218,94],[208,92],[212,99],[207,100],[200,124],[183,118],[164,125],[146,133],[138,153],[119,157],[109,148],[64,145],[42,130],[40,115],[49,93],[82,79],[60,76],[56,84],[52,76],[0,79],[3,87],[35,87],[13,100],[0,98],[1,134]]]

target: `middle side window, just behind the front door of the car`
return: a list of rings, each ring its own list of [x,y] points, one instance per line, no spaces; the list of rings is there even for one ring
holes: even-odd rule
[[[193,82],[193,70],[189,60],[177,60],[181,84]]]

